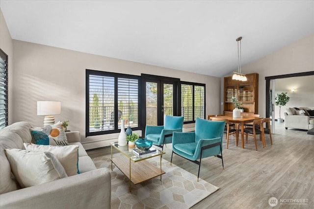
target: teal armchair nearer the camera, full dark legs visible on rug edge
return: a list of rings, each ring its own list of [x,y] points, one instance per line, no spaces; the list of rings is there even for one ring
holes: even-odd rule
[[[222,167],[224,167],[222,159],[222,138],[225,123],[225,121],[210,121],[196,118],[195,132],[174,132],[170,163],[172,163],[173,153],[175,153],[193,163],[198,164],[199,168],[197,181],[200,175],[202,158],[216,156],[221,159]]]

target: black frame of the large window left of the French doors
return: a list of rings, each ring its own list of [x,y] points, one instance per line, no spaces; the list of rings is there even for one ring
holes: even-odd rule
[[[89,105],[89,96],[90,96],[90,86],[89,86],[89,78],[90,75],[96,75],[96,76],[106,76],[106,77],[113,77],[114,78],[114,121],[118,121],[118,79],[136,79],[138,80],[138,98],[137,98],[137,104],[138,104],[138,126],[132,127],[132,130],[141,130],[141,104],[140,104],[140,93],[141,93],[141,76],[138,75],[129,75],[129,74],[122,74],[122,73],[116,73],[116,72],[106,72],[106,71],[99,71],[99,70],[89,70],[86,69],[86,96],[85,96],[85,102],[86,102],[86,110],[85,110],[85,135],[86,137],[89,136],[98,136],[98,135],[104,135],[104,134],[113,134],[113,133],[120,133],[121,129],[118,127],[118,123],[114,123],[114,129],[113,130],[104,130],[104,131],[96,131],[96,132],[90,132],[89,131],[89,122],[90,122],[90,105]]]

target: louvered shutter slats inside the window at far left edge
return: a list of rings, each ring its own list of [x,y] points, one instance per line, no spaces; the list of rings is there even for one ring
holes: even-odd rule
[[[8,125],[8,56],[0,49],[0,129]]]

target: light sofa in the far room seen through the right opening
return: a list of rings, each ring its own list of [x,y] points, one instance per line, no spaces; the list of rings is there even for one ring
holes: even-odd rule
[[[313,114],[314,107],[298,107],[298,110],[295,108],[287,108],[285,113],[285,128],[295,128],[295,129],[304,129],[310,130],[314,128],[314,116]]]

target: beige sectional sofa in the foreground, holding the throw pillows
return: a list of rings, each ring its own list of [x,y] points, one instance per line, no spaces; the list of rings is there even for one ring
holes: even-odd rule
[[[80,174],[20,188],[5,149],[24,149],[24,143],[32,142],[30,128],[27,122],[17,122],[0,130],[0,209],[110,209],[110,172],[106,168],[96,169],[77,131],[66,132],[66,136],[69,144],[79,147]]]

